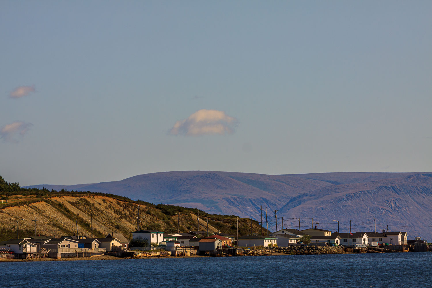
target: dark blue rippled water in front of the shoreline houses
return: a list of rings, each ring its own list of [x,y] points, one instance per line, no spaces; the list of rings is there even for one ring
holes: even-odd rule
[[[432,253],[0,263],[0,287],[432,287]]]

